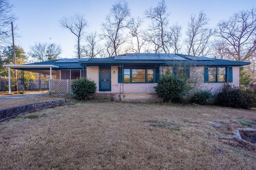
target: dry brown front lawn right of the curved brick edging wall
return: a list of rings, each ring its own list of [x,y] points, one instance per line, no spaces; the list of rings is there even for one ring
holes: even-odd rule
[[[0,169],[256,169],[256,111],[81,102],[0,122]],[[209,123],[212,122],[212,123]]]

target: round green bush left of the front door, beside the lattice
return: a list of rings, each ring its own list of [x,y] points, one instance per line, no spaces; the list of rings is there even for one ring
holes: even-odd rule
[[[72,82],[71,90],[77,100],[86,100],[90,94],[96,92],[96,84],[87,78],[77,78]]]

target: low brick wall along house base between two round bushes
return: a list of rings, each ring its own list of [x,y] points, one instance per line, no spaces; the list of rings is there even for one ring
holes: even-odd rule
[[[163,102],[156,93],[95,93],[89,96],[93,100],[120,101],[120,102]]]

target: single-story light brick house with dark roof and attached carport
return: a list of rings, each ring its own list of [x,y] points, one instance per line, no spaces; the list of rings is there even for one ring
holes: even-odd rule
[[[181,54],[126,53],[107,58],[58,59],[4,66],[9,70],[49,74],[52,94],[70,94],[72,80],[87,77],[96,83],[96,96],[111,96],[113,100],[122,101],[158,101],[154,86],[166,72],[187,78],[196,89],[215,92],[226,82],[239,86],[239,67],[248,64]],[[52,75],[56,79],[52,79]]]

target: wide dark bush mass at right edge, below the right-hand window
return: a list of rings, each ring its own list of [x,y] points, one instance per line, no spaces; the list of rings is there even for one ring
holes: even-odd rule
[[[224,107],[249,109],[256,107],[256,91],[224,84],[215,96],[215,104]]]

